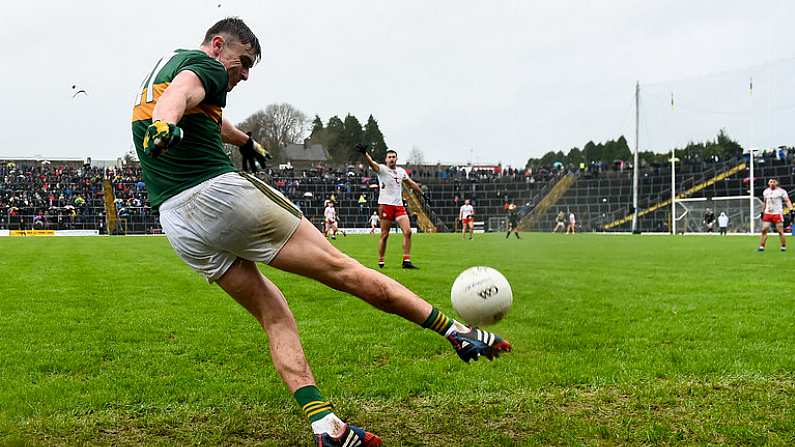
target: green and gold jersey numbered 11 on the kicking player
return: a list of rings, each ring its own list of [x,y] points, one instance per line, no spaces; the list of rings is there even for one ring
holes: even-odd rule
[[[204,100],[186,110],[177,123],[183,130],[182,141],[152,158],[143,152],[146,128],[152,124],[157,99],[183,70],[192,71],[204,84]],[[176,50],[162,57],[144,79],[133,106],[132,132],[153,207],[205,180],[236,171],[221,141],[228,82],[223,64],[199,50]]]

